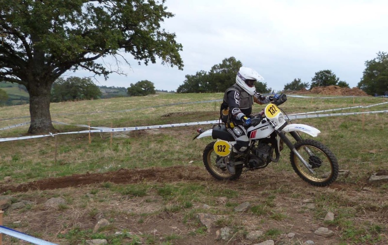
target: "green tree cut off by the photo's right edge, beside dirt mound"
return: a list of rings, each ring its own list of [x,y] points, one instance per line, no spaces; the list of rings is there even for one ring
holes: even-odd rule
[[[370,95],[383,95],[388,91],[388,53],[378,52],[376,58],[365,61],[365,66],[357,87]]]

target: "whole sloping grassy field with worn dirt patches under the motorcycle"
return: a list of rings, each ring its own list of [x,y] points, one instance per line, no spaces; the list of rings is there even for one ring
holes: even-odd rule
[[[52,103],[50,111],[53,121],[73,124],[54,124],[58,132],[87,129],[76,124],[131,127],[199,122],[218,119],[220,102],[194,102],[220,100],[222,96],[161,93]],[[292,114],[387,101],[375,97],[289,97],[281,108]],[[387,108],[383,104],[332,113]],[[260,109],[254,106],[254,111]],[[0,107],[0,115],[0,128],[29,122],[29,106]],[[289,151],[284,150],[277,164],[243,173],[235,182],[218,182],[202,164],[202,151],[212,139],[192,140],[196,126],[0,142],[1,190],[12,196],[13,202],[26,199],[35,203],[7,211],[4,224],[58,244],[84,244],[94,238],[105,238],[109,244],[254,244],[267,239],[276,244],[303,244],[307,240],[315,244],[387,244],[388,184],[368,182],[373,172],[388,172],[387,113],[292,122],[320,129],[322,134],[316,139],[336,154],[340,169],[350,170],[350,175],[339,177],[329,187],[310,186],[293,172]],[[28,126],[1,130],[0,138],[26,136],[27,130]],[[114,179],[123,173],[126,178]],[[87,176],[96,176],[95,181],[82,183]],[[68,178],[73,183],[40,189],[37,184],[53,180],[50,178]],[[38,188],[12,191],[25,184]],[[46,208],[44,202],[52,197],[62,197],[66,204]],[[235,212],[233,208],[245,201],[251,207]],[[306,208],[306,202],[315,208]],[[335,214],[334,221],[323,221],[328,211]],[[208,230],[197,220],[198,213],[225,216]],[[93,232],[101,217],[110,225]],[[233,231],[230,238],[214,240],[216,231],[225,227]],[[319,227],[327,227],[335,235],[314,235]],[[262,230],[263,235],[248,241],[246,235],[252,230]],[[124,233],[117,235],[117,231]],[[289,232],[296,236],[288,238],[285,234]],[[23,244],[4,235],[3,242]]]

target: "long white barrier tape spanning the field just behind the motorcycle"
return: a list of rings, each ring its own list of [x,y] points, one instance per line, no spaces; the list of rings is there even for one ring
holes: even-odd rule
[[[286,116],[286,117],[289,120],[291,120],[291,119],[320,118],[320,117],[374,114],[374,113],[387,113],[387,112],[388,112],[388,110],[380,110],[380,111],[364,111],[364,112],[333,113],[333,114],[293,115],[293,116],[290,115],[290,116]],[[28,138],[42,138],[42,137],[48,137],[48,136],[54,137],[56,135],[66,135],[66,134],[84,134],[84,133],[98,133],[98,132],[100,132],[100,133],[122,132],[122,131],[133,131],[133,130],[151,129],[151,128],[166,128],[166,127],[192,126],[192,125],[203,125],[203,124],[216,124],[218,122],[219,122],[219,120],[213,120],[213,121],[203,121],[203,122],[186,122],[186,123],[125,127],[125,128],[104,128],[104,129],[74,131],[74,132],[66,132],[66,133],[58,133],[58,134],[51,134],[50,133],[49,135],[35,135],[35,136],[25,136],[25,137],[16,137],[16,138],[0,138],[0,142],[18,140],[18,139],[28,139]]]

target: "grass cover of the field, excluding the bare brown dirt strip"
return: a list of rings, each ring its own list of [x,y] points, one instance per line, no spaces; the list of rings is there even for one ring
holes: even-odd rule
[[[187,102],[221,99],[222,94],[170,94],[161,93],[158,96],[126,97],[95,101],[53,103],[50,110],[52,119],[71,124],[89,124],[92,126],[130,127],[140,125],[158,125],[177,122],[198,122],[218,119],[218,102],[202,104],[183,104]],[[287,113],[318,111],[323,109],[352,107],[359,105],[372,105],[384,101],[382,98],[356,97],[336,99],[311,99],[292,98],[281,106]],[[151,106],[174,106],[146,108]],[[180,103],[180,104],[179,104]],[[386,110],[387,105],[371,107],[366,110]],[[139,109],[144,108],[144,109]],[[254,111],[262,108],[254,106]],[[139,109],[134,111],[122,111]],[[106,112],[117,111],[117,112]],[[120,112],[118,112],[120,111]],[[359,112],[360,108],[348,109],[343,112]],[[106,112],[86,114],[87,112]],[[71,114],[85,113],[85,114]],[[2,119],[17,118],[29,115],[28,105],[14,107],[0,107]],[[168,116],[167,116],[168,115]],[[0,121],[0,128],[20,122],[28,122],[28,118]],[[305,215],[311,218],[314,224],[336,229],[339,240],[343,244],[383,244],[381,234],[387,232],[387,225],[381,221],[377,214],[387,214],[388,203],[386,200],[377,199],[387,193],[388,184],[371,185],[373,190],[363,192],[372,172],[388,168],[388,118],[387,114],[369,114],[356,116],[324,117],[313,119],[293,120],[295,123],[312,125],[321,130],[321,135],[316,138],[327,145],[336,154],[340,169],[349,169],[348,178],[339,178],[335,185],[346,186],[348,190],[342,191],[341,187],[316,188],[303,183],[296,177],[289,164],[289,150],[282,152],[279,163],[271,164],[268,168],[258,170],[258,177],[251,178],[251,172],[244,173],[250,182],[257,183],[254,190],[250,190],[241,182],[216,182],[211,181],[172,181],[166,183],[113,184],[105,182],[88,188],[79,197],[73,197],[71,190],[67,194],[56,193],[56,196],[65,197],[68,203],[62,205],[56,212],[63,215],[61,222],[67,222],[58,238],[66,244],[83,244],[92,238],[105,238],[109,244],[179,244],[185,236],[178,233],[169,233],[160,238],[151,233],[144,235],[113,236],[117,227],[116,219],[133,219],[137,226],[145,226],[149,219],[168,220],[170,217],[179,216],[179,224],[187,227],[188,236],[200,239],[206,236],[207,230],[198,224],[195,219],[197,213],[225,214],[226,218],[216,221],[218,227],[233,227],[237,235],[234,236],[238,243],[240,235],[245,232],[242,228],[244,222],[254,223],[256,226],[262,222],[266,229],[264,237],[268,239],[281,239],[285,231],[278,230],[275,225],[297,222],[295,215]],[[59,132],[72,132],[85,128],[74,125],[54,125]],[[11,176],[11,184],[21,184],[49,177],[68,176],[83,173],[104,173],[120,168],[139,169],[150,167],[190,166],[203,169],[202,151],[212,139],[202,138],[192,140],[196,135],[196,128],[210,128],[210,125],[165,128],[158,130],[132,131],[126,138],[113,138],[111,143],[110,133],[91,134],[91,143],[87,134],[59,135],[53,137],[35,138],[0,142],[0,180]],[[14,129],[1,130],[0,138],[17,137],[26,134],[28,126]],[[121,134],[121,133],[119,133]],[[309,138],[302,135],[303,138]],[[278,180],[267,184],[271,179],[261,179],[263,176],[273,174],[273,179]],[[270,171],[270,172],[268,172]],[[194,172],[193,175],[198,173]],[[198,174],[199,175],[199,174]],[[282,178],[294,178],[298,185],[281,184]],[[178,178],[177,178],[178,179]],[[9,183],[2,183],[9,184]],[[305,184],[305,185],[304,185]],[[371,187],[371,188],[372,188]],[[248,188],[248,189],[247,189]],[[339,188],[339,189],[338,189]],[[45,199],[49,192],[29,192],[20,195],[25,199]],[[248,194],[247,194],[248,193]],[[10,194],[10,193],[8,193]],[[88,194],[88,195],[86,195]],[[365,195],[364,195],[365,194]],[[358,198],[357,195],[361,195]],[[279,198],[282,197],[283,199]],[[314,210],[301,208],[303,199],[312,199]],[[220,201],[222,199],[223,201]],[[249,210],[243,214],[233,211],[233,208],[246,199],[252,203]],[[130,204],[139,201],[142,204],[154,205],[153,209],[136,213]],[[119,206],[110,206],[120,203]],[[290,203],[279,206],[279,203]],[[289,202],[289,203],[288,203]],[[202,209],[203,204],[211,206],[209,210]],[[284,203],[283,203],[284,204]],[[113,205],[113,204],[112,204]],[[123,205],[123,210],[118,210]],[[128,205],[128,207],[125,207]],[[42,207],[32,206],[20,210],[22,215],[30,212],[39,212]],[[289,209],[287,209],[289,208]],[[117,210],[116,210],[117,209]],[[93,233],[92,230],[77,227],[78,220],[71,219],[74,212],[91,220],[104,214],[112,219],[114,226]],[[292,211],[292,212],[291,212]],[[323,221],[325,214],[330,211],[335,214],[334,221]],[[76,216],[76,214],[73,214]],[[13,215],[16,215],[15,213]],[[66,216],[67,215],[67,216]],[[158,216],[159,215],[159,216]],[[240,220],[240,217],[243,217]],[[364,217],[366,217],[364,219]],[[11,217],[8,217],[11,218]],[[261,221],[260,221],[261,220]],[[97,222],[97,221],[96,221]],[[124,221],[122,221],[125,224]],[[255,223],[256,222],[256,223]],[[28,228],[27,223],[14,224],[14,228]],[[248,226],[247,227],[252,227]],[[268,229],[267,229],[268,228]],[[7,241],[10,241],[7,240]]]

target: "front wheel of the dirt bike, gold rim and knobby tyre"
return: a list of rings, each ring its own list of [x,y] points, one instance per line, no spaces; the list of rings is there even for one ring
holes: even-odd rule
[[[315,186],[327,186],[337,179],[337,158],[321,142],[313,139],[303,139],[297,141],[294,146],[307,164],[311,166],[310,170],[312,172],[291,151],[291,166],[304,181]]]

